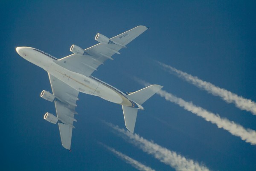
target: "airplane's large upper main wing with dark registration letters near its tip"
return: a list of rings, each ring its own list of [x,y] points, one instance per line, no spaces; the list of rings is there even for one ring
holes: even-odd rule
[[[70,71],[78,72],[85,76],[90,76],[93,71],[103,64],[106,60],[111,59],[113,54],[120,54],[119,50],[125,48],[125,45],[130,43],[148,27],[137,26],[131,30],[125,31],[115,37],[112,37],[110,42],[99,43],[84,50],[84,55],[71,54],[67,57],[56,60],[55,63],[67,68]]]

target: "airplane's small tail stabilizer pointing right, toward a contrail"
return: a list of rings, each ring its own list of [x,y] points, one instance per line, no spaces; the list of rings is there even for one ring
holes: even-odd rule
[[[129,99],[142,105],[146,100],[153,96],[157,91],[159,91],[163,86],[161,85],[150,85],[139,91],[135,91],[128,95]]]

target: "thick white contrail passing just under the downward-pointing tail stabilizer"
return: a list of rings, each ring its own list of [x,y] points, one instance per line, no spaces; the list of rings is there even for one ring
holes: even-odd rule
[[[177,171],[209,171],[206,166],[200,165],[198,162],[191,159],[186,159],[175,151],[170,151],[167,148],[161,147],[153,141],[148,141],[143,137],[140,137],[138,134],[131,134],[131,132],[120,129],[118,126],[111,123],[106,124],[121,133],[123,136],[128,137],[129,142],[141,148],[144,152],[153,155],[156,159],[166,165],[170,165]]]

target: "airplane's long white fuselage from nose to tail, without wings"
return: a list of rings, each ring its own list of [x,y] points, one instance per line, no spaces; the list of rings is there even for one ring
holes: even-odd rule
[[[58,59],[44,51],[31,47],[17,47],[16,51],[24,59],[43,68],[49,74],[81,93],[98,96],[120,105],[143,109],[141,105],[129,100],[128,96],[117,88],[95,77],[87,77],[59,66],[55,63]]]

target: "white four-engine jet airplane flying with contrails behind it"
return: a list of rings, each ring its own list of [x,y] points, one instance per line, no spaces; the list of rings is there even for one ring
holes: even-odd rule
[[[57,59],[56,57],[32,47],[17,47],[17,53],[29,62],[43,68],[49,75],[52,93],[43,90],[42,98],[55,103],[57,117],[49,112],[44,119],[50,123],[58,123],[61,144],[70,150],[74,118],[77,112],[76,101],[79,92],[101,97],[113,103],[122,105],[125,126],[134,133],[138,109],[144,110],[142,104],[159,91],[163,86],[150,85],[135,92],[124,93],[105,83],[91,74],[108,59],[113,60],[113,54],[146,31],[148,27],[137,26],[109,39],[102,34],[96,34],[99,43],[87,49],[72,45],[73,54]]]

